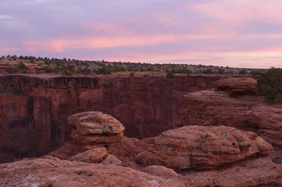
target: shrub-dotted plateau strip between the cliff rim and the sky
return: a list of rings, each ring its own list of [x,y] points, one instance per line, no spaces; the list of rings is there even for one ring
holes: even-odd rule
[[[2,68],[3,66],[8,67]],[[11,65],[13,64],[13,66]],[[10,67],[9,67],[10,65]],[[23,67],[24,66],[24,67]],[[173,74],[207,75],[259,75],[265,70],[219,67],[213,65],[188,65],[171,63],[129,63],[105,60],[76,60],[70,58],[36,58],[35,56],[2,56],[0,73],[61,73],[63,75],[91,73],[109,75],[112,72],[171,72]]]

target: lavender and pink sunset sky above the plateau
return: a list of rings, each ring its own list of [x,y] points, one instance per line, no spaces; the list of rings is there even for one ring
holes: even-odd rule
[[[282,1],[1,0],[6,54],[282,67]]]

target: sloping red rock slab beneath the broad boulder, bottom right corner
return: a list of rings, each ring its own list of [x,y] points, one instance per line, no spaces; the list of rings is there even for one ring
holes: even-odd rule
[[[269,157],[252,157],[234,165],[209,171],[183,173],[195,186],[281,186],[281,169]]]

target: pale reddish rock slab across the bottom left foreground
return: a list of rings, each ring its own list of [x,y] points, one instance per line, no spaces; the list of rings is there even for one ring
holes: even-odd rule
[[[32,162],[39,167],[31,167]],[[0,165],[1,186],[185,186],[127,167],[54,158],[21,160]]]

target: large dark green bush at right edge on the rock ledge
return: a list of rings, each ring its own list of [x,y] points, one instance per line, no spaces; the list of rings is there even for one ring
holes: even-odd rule
[[[271,67],[257,80],[257,92],[265,101],[276,101],[282,98],[282,69]]]

